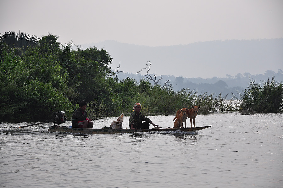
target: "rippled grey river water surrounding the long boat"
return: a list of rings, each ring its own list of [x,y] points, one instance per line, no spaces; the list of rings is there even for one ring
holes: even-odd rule
[[[166,128],[175,115],[147,117]],[[0,187],[283,187],[283,114],[198,115],[196,126],[212,127],[197,134],[18,128],[28,124],[0,123]]]

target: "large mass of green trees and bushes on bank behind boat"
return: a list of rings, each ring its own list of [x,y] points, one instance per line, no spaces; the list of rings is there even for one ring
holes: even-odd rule
[[[135,102],[142,104],[144,114],[175,114],[191,106],[201,106],[201,114],[238,110],[221,93],[214,97],[190,89],[174,91],[170,86],[153,86],[146,78],[139,83],[129,77],[119,80],[105,49],[77,46],[74,50],[72,41],[62,45],[53,35],[37,40],[8,34],[0,35],[0,121],[48,120],[57,111],[65,111],[70,119],[81,100],[88,102],[92,119],[131,113]],[[20,46],[18,40],[30,43]]]

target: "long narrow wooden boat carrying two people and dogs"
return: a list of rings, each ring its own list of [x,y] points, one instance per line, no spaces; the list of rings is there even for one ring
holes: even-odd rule
[[[189,128],[166,128],[166,129],[143,129],[143,130],[131,130],[131,129],[87,129],[87,128],[72,128],[63,126],[50,126],[49,132],[69,132],[69,133],[83,133],[83,134],[115,134],[115,133],[139,133],[139,132],[153,132],[153,131],[184,131],[184,132],[195,132],[198,130],[206,129],[211,126],[204,127],[189,127]]]

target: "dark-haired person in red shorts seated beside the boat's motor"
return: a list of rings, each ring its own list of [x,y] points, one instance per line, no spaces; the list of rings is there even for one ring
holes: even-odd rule
[[[78,128],[92,128],[93,122],[92,119],[87,118],[87,112],[86,112],[86,105],[87,103],[85,101],[81,101],[79,103],[78,109],[75,110],[73,117],[72,117],[72,127],[78,127]]]

